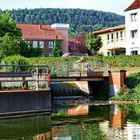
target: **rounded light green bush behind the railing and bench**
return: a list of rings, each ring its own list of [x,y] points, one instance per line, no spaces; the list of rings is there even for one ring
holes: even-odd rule
[[[29,65],[29,61],[20,55],[8,56],[2,59],[2,65],[15,65],[7,67],[7,71],[25,71],[28,67],[21,66],[21,65]],[[16,66],[17,65],[17,66]]]

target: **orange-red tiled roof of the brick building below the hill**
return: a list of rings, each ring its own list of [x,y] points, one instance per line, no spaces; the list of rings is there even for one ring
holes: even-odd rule
[[[49,25],[41,24],[16,24],[21,29],[23,38],[30,40],[63,40],[63,36]]]

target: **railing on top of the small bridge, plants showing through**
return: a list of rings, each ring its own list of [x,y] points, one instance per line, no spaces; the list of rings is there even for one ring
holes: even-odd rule
[[[51,77],[95,76],[99,71],[108,71],[110,66],[101,62],[62,62],[49,65]],[[104,69],[105,68],[105,69]]]

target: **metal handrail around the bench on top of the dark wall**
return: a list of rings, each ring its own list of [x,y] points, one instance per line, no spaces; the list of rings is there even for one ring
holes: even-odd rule
[[[31,67],[31,68],[29,68]],[[35,89],[36,90],[40,90],[40,86],[43,82],[45,82],[45,88],[48,89],[49,87],[49,83],[50,83],[50,78],[49,78],[49,67],[48,65],[19,65],[19,64],[0,64],[0,72],[4,72],[4,74],[6,75],[6,72],[14,72],[14,73],[20,73],[20,72],[30,72],[31,73],[31,77],[25,76],[26,79],[24,79],[24,75],[22,76],[15,76],[14,75],[6,75],[5,77],[0,77],[0,84],[2,82],[4,83],[8,83],[8,82],[35,82]],[[20,77],[22,77],[22,80],[20,79]],[[10,80],[7,79],[10,78]],[[12,80],[11,80],[12,78]],[[7,85],[7,84],[6,84]]]

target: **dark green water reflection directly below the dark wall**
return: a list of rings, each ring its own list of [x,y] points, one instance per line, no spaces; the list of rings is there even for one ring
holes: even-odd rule
[[[32,116],[22,118],[0,119],[1,140],[43,140],[40,134],[50,139],[51,116]]]

